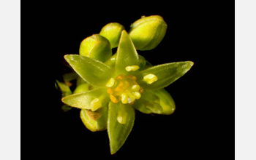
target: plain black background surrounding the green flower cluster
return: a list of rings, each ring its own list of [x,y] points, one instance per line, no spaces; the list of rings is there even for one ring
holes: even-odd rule
[[[138,1],[22,4],[21,155],[24,159],[234,159],[234,1]],[[30,7],[29,7],[30,6]],[[195,65],[167,91],[170,116],[136,112],[126,143],[110,155],[107,132],[90,132],[79,110],[61,110],[61,61],[107,23],[161,15],[159,46],[138,52],[153,65]]]

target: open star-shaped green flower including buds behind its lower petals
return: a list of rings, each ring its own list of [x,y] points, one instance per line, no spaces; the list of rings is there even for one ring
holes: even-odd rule
[[[127,140],[135,110],[173,113],[175,103],[163,88],[193,65],[186,61],[151,66],[138,55],[125,30],[121,31],[116,54],[105,63],[82,55],[64,57],[86,83],[80,92],[63,97],[62,102],[80,108],[80,118],[91,131],[108,129],[112,154]]]

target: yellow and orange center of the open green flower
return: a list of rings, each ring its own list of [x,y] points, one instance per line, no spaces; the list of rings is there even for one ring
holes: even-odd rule
[[[136,77],[129,75],[118,75],[116,79],[111,78],[106,84],[110,100],[113,103],[121,103],[132,105],[135,100],[140,99],[143,88],[136,82]]]

